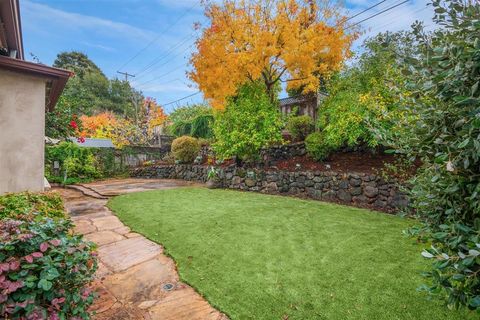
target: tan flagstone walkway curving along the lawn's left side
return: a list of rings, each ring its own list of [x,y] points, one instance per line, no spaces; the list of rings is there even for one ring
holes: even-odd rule
[[[163,248],[131,232],[106,207],[111,196],[193,185],[174,180],[122,179],[54,188],[65,199],[75,232],[97,243],[99,268],[93,288],[95,319],[227,320],[179,280]]]

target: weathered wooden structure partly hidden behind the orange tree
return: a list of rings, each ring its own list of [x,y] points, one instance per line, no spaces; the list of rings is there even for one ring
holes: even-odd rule
[[[325,97],[324,93],[287,97],[278,101],[279,108],[283,115],[289,115],[296,110],[296,115],[310,116],[316,122],[318,107]]]

